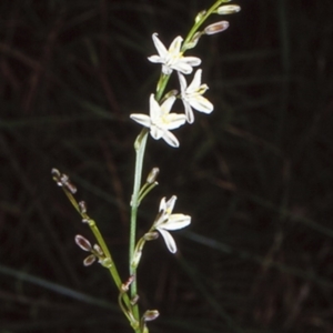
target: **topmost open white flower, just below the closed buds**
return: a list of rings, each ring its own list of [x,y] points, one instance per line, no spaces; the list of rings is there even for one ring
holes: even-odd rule
[[[160,41],[158,33],[153,33],[152,39],[159,56],[151,56],[148,58],[148,60],[155,63],[162,63],[162,72],[164,74],[171,74],[172,70],[180,71],[184,74],[190,74],[193,70],[192,67],[201,63],[200,58],[183,57],[183,53],[181,52],[181,43],[183,39],[180,36],[172,41],[169,50],[167,50],[167,48]]]

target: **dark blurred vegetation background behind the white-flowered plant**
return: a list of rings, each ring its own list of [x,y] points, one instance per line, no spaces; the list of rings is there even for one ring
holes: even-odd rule
[[[129,114],[159,75],[151,34],[169,44],[210,3],[0,2],[1,333],[131,332],[108,272],[82,266],[73,238],[93,239],[50,171],[77,184],[125,280]],[[193,223],[175,256],[147,244],[140,304],[161,312],[151,332],[333,332],[333,4],[238,3],[189,52],[215,111],[175,132],[178,150],[149,140],[160,185],[139,233],[164,195]]]

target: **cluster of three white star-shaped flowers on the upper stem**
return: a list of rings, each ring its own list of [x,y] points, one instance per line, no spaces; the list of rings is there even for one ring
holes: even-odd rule
[[[178,36],[170,44],[169,50],[160,41],[158,33],[153,33],[152,39],[159,54],[151,56],[148,59],[151,62],[161,63],[164,75],[170,75],[173,70],[178,72],[181,91],[178,98],[182,100],[185,112],[184,114],[170,112],[176,99],[174,94],[168,97],[161,104],[155,100],[155,95],[151,94],[150,115],[132,113],[130,117],[143,127],[149,128],[153,139],[163,139],[171,147],[179,147],[178,139],[170,130],[174,130],[185,122],[193,123],[193,109],[203,113],[211,113],[214,107],[203,97],[208,85],[201,83],[201,69],[195,71],[190,84],[186,82],[184,74],[191,74],[193,67],[201,64],[201,59],[183,56],[182,37]],[[183,49],[185,49],[184,46]]]

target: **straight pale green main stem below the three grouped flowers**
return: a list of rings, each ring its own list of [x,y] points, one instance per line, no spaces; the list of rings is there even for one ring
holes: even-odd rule
[[[134,149],[137,152],[137,159],[135,159],[135,173],[134,173],[134,186],[133,186],[133,194],[131,200],[131,228],[130,228],[130,250],[129,250],[129,270],[130,275],[137,276],[137,268],[133,268],[131,265],[135,249],[135,235],[137,235],[137,216],[138,216],[138,208],[139,208],[139,192],[141,188],[141,178],[142,178],[142,167],[143,167],[143,157],[144,157],[144,150],[145,150],[145,143],[148,138],[148,129],[143,128],[141,133],[138,135],[135,142],[134,142]],[[134,297],[137,295],[138,289],[137,289],[137,279],[131,284],[131,297]],[[139,309],[135,304],[133,306],[133,314],[134,317],[139,321]]]

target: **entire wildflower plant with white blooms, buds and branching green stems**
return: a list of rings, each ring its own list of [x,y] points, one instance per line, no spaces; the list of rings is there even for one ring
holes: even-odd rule
[[[70,202],[81,215],[82,222],[88,224],[95,238],[95,244],[93,245],[82,235],[75,235],[74,238],[75,243],[83,251],[89,253],[84,259],[83,264],[89,266],[97,261],[110,271],[119,292],[119,305],[135,333],[148,333],[149,329],[147,322],[155,320],[159,316],[158,310],[147,310],[142,314],[139,310],[137,270],[142,258],[145,242],[153,241],[158,239],[159,235],[162,235],[168,250],[171,253],[175,253],[176,244],[171,232],[183,229],[191,223],[190,215],[173,213],[176,202],[175,195],[172,195],[170,199],[162,198],[150,230],[148,230],[139,240],[137,239],[138,209],[147,194],[158,185],[158,168],[152,169],[143,184],[141,180],[147,140],[150,133],[153,139],[163,139],[167,144],[172,148],[178,148],[180,143],[178,138],[173,134],[173,130],[185,123],[192,124],[194,122],[193,110],[206,114],[213,111],[213,104],[203,97],[208,90],[208,85],[201,82],[202,69],[198,68],[201,65],[201,59],[184,54],[198,44],[202,36],[214,34],[224,31],[229,27],[228,21],[218,21],[202,28],[204,22],[213,14],[230,14],[240,10],[240,7],[236,4],[224,4],[229,1],[230,0],[215,1],[211,8],[201,11],[196,16],[194,24],[190,29],[188,36],[184,39],[181,36],[175,37],[168,49],[160,40],[158,33],[152,34],[152,40],[158,54],[149,57],[148,60],[152,63],[161,64],[160,79],[155,92],[151,93],[149,98],[149,114],[133,113],[130,115],[133,121],[141,124],[143,128],[134,142],[137,159],[133,193],[130,202],[131,226],[129,235],[128,278],[124,280],[120,278],[117,264],[111,256],[111,251],[104,242],[97,223],[88,214],[85,203],[75,200],[75,185],[71,183],[67,174],[61,173],[57,169],[52,169],[54,181],[63,189]],[[188,79],[186,77],[193,73],[194,67],[196,69],[192,79]],[[180,91],[173,89],[165,92],[169,79],[174,72],[176,72],[179,79]],[[172,112],[172,107],[176,100],[182,101],[184,105],[183,113]]]

